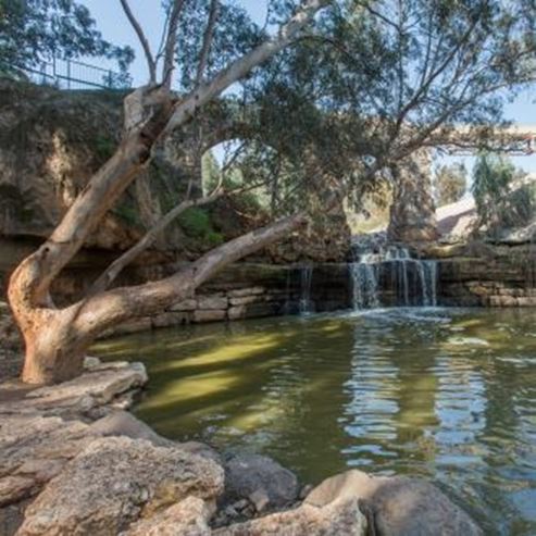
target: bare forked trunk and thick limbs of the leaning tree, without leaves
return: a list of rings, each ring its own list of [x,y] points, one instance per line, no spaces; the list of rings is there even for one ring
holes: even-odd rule
[[[177,30],[186,3],[185,0],[170,3],[163,45],[155,53],[128,0],[121,0],[125,15],[144,48],[149,79],[147,85],[125,98],[124,133],[115,153],[90,178],[49,239],[24,259],[10,278],[9,300],[26,348],[25,382],[53,383],[79,374],[85,351],[104,329],[137,315],[154,313],[190,296],[196,287],[225,264],[276,240],[303,222],[303,214],[295,214],[210,251],[170,277],[145,285],[108,289],[132,255],[151,242],[166,217],[170,217],[166,215],[163,223],[158,223],[155,229],[149,230],[148,236],[134,247],[134,253],[127,251],[99,277],[83,300],[62,309],[54,304],[50,292],[52,282],[148,164],[157,144],[188,123],[199,109],[257,65],[287,47],[328,2],[301,2],[270,37],[207,77],[203,67],[207,52],[202,52],[195,86],[187,95],[178,95],[171,88],[175,47],[179,37]],[[207,32],[202,50],[210,49],[211,40],[212,33]]]

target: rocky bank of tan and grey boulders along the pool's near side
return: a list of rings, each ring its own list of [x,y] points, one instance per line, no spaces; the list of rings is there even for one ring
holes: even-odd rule
[[[424,481],[352,470],[300,490],[269,458],[165,439],[125,411],[146,382],[88,359],[72,382],[0,386],[0,534],[482,534]]]

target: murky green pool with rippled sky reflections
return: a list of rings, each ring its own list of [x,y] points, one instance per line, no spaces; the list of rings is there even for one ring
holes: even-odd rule
[[[388,309],[164,329],[96,353],[144,361],[160,434],[265,453],[319,483],[431,478],[486,534],[536,535],[536,311]]]

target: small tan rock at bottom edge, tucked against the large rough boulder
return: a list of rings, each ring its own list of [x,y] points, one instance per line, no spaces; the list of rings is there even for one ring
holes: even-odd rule
[[[210,536],[211,509],[197,497],[188,497],[162,513],[135,523],[122,536]]]

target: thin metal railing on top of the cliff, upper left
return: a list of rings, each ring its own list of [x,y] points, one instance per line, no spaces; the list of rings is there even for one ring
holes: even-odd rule
[[[40,62],[35,67],[20,67],[32,82],[60,89],[128,89],[132,77],[109,68],[97,67],[76,60]]]

